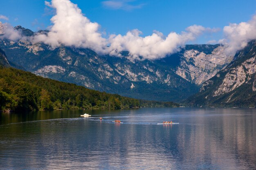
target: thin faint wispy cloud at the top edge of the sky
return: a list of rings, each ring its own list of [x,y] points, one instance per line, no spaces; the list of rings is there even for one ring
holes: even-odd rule
[[[110,9],[124,9],[130,11],[132,9],[139,9],[143,7],[145,4],[130,4],[134,0],[107,0],[101,2],[104,7]]]

